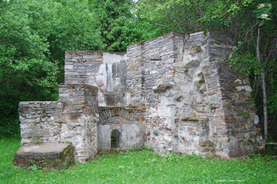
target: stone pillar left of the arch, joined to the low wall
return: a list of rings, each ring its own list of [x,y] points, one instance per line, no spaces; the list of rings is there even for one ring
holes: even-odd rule
[[[79,162],[87,161],[97,152],[96,94],[97,88],[87,84],[60,85],[61,140],[72,143]]]

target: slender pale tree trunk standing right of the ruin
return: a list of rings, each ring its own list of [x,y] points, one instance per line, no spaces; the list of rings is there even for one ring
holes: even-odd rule
[[[267,139],[267,124],[268,124],[268,117],[267,117],[267,91],[266,91],[266,84],[265,84],[265,70],[263,64],[261,62],[261,55],[260,55],[260,40],[261,40],[261,28],[258,25],[258,35],[257,35],[257,44],[256,44],[256,58],[260,62],[261,69],[262,69],[262,90],[263,90],[263,125],[264,125],[264,133],[265,133],[265,140]]]

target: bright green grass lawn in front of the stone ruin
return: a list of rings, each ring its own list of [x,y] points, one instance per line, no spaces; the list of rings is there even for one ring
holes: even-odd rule
[[[202,159],[196,155],[161,157],[148,150],[103,154],[61,171],[27,171],[12,167],[18,139],[0,140],[0,183],[220,183],[215,180],[275,183],[277,161],[255,156],[240,160]]]

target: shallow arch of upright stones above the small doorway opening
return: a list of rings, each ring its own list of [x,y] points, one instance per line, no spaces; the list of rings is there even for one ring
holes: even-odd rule
[[[99,113],[100,120],[108,119],[109,117],[122,117],[124,119],[133,121],[136,113],[126,111],[124,108],[107,108]]]

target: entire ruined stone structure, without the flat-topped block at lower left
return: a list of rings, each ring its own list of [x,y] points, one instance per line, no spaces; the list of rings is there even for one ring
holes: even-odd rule
[[[66,51],[58,102],[21,102],[22,144],[71,142],[85,162],[145,143],[158,152],[232,158],[264,147],[249,80],[226,63],[235,42],[223,30],[170,32],[127,53]]]

